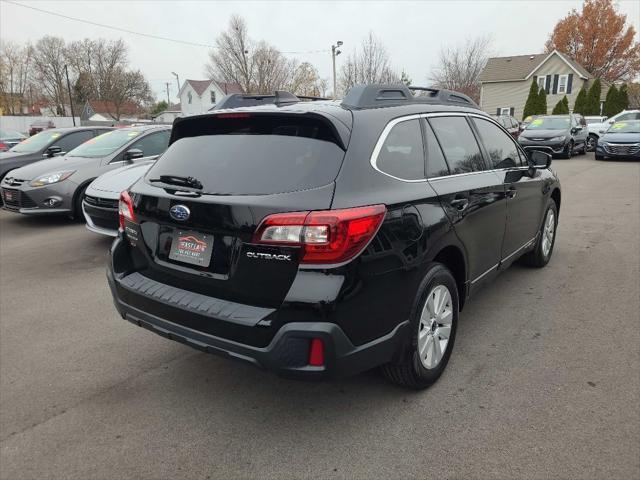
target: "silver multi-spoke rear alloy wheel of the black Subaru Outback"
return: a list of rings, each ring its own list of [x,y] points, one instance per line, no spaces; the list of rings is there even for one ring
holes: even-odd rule
[[[452,323],[451,292],[444,285],[436,285],[427,296],[418,324],[418,355],[425,368],[436,368],[442,360],[449,344]]]

